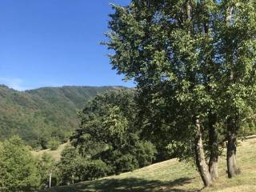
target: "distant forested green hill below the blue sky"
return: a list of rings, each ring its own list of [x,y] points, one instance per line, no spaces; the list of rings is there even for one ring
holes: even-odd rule
[[[62,86],[17,91],[0,86],[0,140],[18,134],[31,146],[65,140],[78,127],[78,110],[114,86]]]

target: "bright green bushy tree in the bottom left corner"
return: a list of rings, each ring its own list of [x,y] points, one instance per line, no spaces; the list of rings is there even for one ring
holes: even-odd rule
[[[40,185],[36,162],[21,138],[14,136],[0,146],[0,189],[33,191]]]

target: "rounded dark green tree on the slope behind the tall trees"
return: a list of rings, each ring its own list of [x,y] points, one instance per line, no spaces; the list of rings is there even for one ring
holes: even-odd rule
[[[133,90],[111,90],[90,100],[80,114],[81,128],[71,137],[83,157],[101,159],[108,174],[152,163],[155,147],[140,139]]]

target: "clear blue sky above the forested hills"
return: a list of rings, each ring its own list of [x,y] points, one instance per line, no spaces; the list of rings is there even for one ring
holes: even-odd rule
[[[111,70],[105,46],[110,2],[129,0],[1,0],[0,84],[134,86]]]

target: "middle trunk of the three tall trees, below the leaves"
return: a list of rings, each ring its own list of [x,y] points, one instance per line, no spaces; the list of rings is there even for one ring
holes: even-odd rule
[[[208,121],[210,146],[209,171],[211,179],[215,180],[218,178],[218,134],[214,127],[217,122],[217,115],[210,113]]]

